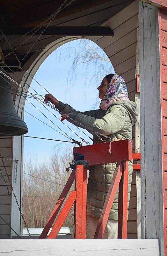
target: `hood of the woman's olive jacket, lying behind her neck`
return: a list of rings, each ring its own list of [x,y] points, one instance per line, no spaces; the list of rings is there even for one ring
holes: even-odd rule
[[[139,116],[138,112],[136,112],[137,104],[130,100],[117,100],[113,102],[110,106],[118,105],[118,104],[123,106],[127,110],[131,123],[132,125],[134,125]]]

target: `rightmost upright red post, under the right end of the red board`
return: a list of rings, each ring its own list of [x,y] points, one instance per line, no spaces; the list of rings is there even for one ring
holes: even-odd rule
[[[121,162],[123,175],[118,194],[118,238],[127,238],[128,161]]]

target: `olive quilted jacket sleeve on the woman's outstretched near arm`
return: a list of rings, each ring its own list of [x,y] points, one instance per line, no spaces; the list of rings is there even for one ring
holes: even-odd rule
[[[107,113],[102,118],[95,118],[92,116],[88,116],[83,112],[76,111],[68,104],[59,103],[57,105],[57,109],[64,114],[70,112],[69,117],[84,124],[86,127],[93,129],[103,135],[110,135],[120,131],[125,122],[125,109],[120,105],[113,105],[110,112]],[[81,125],[77,124],[76,122],[69,120],[71,123],[82,127]],[[82,127],[87,129],[86,127]],[[87,129],[91,134],[94,134],[92,131]]]

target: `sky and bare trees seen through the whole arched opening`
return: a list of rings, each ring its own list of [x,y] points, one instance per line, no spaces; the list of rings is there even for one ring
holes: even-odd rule
[[[83,65],[81,64],[80,70],[77,70],[77,72],[79,72],[79,75],[76,76],[76,78],[74,77],[74,80],[77,81],[70,81],[68,86],[71,86],[71,88],[67,88],[66,84],[68,79],[68,69],[71,68],[71,64],[69,62],[73,62],[72,58],[70,59],[70,61],[66,59],[67,48],[77,47],[77,41],[78,40],[75,40],[70,43],[70,46],[68,46],[69,43],[66,43],[63,44],[62,47],[60,47],[60,50],[62,51],[62,53],[64,53],[61,54],[60,57],[64,61],[61,62],[59,61],[59,58],[55,58],[56,51],[59,50],[57,49],[55,51],[52,51],[52,53],[46,58],[46,60],[41,63],[40,67],[39,64],[37,64],[37,67],[39,68],[33,77],[35,80],[32,79],[29,90],[32,92],[32,90],[35,89],[36,92],[40,92],[42,96],[45,95],[47,91],[40,87],[40,85],[36,82],[38,81],[49,92],[55,95],[56,98],[60,97],[58,99],[63,102],[68,102],[69,105],[72,105],[75,109],[78,109],[80,111],[88,111],[93,109],[93,105],[95,105],[94,103],[96,103],[96,108],[99,107],[100,99],[98,98],[97,87],[99,85],[99,79],[102,80],[103,76],[97,77],[98,75],[96,75],[92,77],[93,72],[95,72],[95,67],[92,64],[91,66],[89,66],[90,72],[85,74],[87,75],[88,81],[88,85],[86,85],[83,78],[83,69],[85,66],[86,72],[87,67],[85,63],[83,63]],[[99,49],[98,53],[100,56],[100,53],[102,55],[102,52],[104,51],[100,49],[99,46],[97,47]],[[106,55],[105,58],[107,58]],[[107,63],[104,70],[105,75],[108,70],[107,68],[110,67],[109,69],[111,70],[112,65],[110,61],[103,61]],[[59,62],[59,66],[57,66],[56,62]],[[97,63],[97,65],[101,65],[101,63]],[[63,72],[62,68],[64,68],[64,72],[66,72],[66,74]],[[58,69],[57,73],[55,73],[55,69]],[[96,102],[94,102],[95,98]],[[35,105],[37,109],[35,109],[34,106],[29,103],[29,101],[31,102],[31,104]],[[81,130],[78,130],[73,124],[70,124],[65,120],[64,122],[70,128],[69,130],[67,126],[64,126],[64,122],[60,122],[59,120],[57,120],[57,118],[49,113],[47,109],[43,108],[41,104],[35,104],[34,101],[34,99],[28,97],[25,101],[25,122],[29,127],[29,132],[26,136],[36,136],[50,139],[53,138],[66,141],[55,142],[35,138],[24,138],[24,162],[26,162],[26,165],[23,170],[23,211],[27,219],[27,225],[30,228],[42,228],[44,227],[56,200],[61,194],[63,188],[62,184],[65,184],[69,177],[69,174],[66,173],[65,169],[69,166],[69,161],[72,160],[71,149],[74,144],[67,143],[67,141],[70,141],[67,136],[69,135],[70,138],[78,140],[82,143],[82,145],[86,144],[81,140],[81,137],[90,144],[92,144],[92,141],[89,139],[89,136],[91,135],[87,131],[83,130],[83,134]],[[42,113],[39,112],[38,109],[42,111]],[[33,116],[37,117],[38,120],[34,119],[34,117],[32,117],[32,115],[29,115],[27,112],[29,114],[33,113]],[[60,115],[57,114],[57,112],[52,112],[60,119]],[[43,114],[45,114],[45,116],[49,120],[44,117]],[[50,120],[52,122],[55,122],[56,127],[54,126],[54,123],[50,122]],[[42,121],[43,123],[41,123],[40,121]],[[52,128],[55,128],[57,131],[61,132],[61,134],[57,133],[55,129],[51,129],[50,127],[46,126],[44,122],[49,124],[49,126],[51,126]],[[59,128],[61,128],[61,130]],[[65,137],[63,136],[63,131],[65,131]],[[55,150],[51,152],[55,144],[60,143],[61,146],[58,147],[57,145],[57,147],[55,148],[56,152],[58,151],[58,154],[55,153]],[[31,154],[31,159],[27,158],[28,154]],[[38,163],[34,163],[33,155],[37,156]],[[42,205],[41,202],[43,202]],[[73,221],[71,221],[72,219],[72,215],[70,215],[70,218],[68,218],[66,223],[64,223],[64,225],[71,228],[71,231],[73,226]]]

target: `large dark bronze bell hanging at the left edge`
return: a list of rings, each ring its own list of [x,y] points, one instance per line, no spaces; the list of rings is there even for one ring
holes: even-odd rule
[[[10,76],[2,68],[0,70]],[[0,136],[23,135],[27,132],[26,123],[19,117],[14,106],[11,80],[0,73]]]

